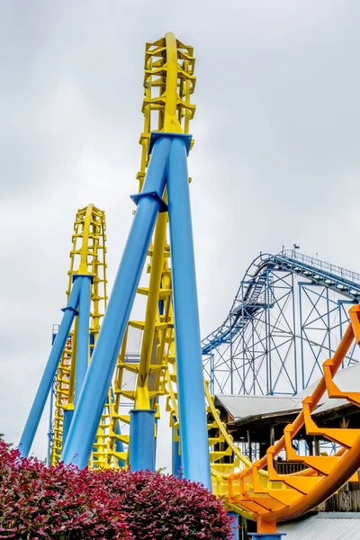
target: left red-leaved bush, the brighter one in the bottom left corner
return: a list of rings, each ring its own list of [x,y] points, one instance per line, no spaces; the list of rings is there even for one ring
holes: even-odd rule
[[[130,540],[124,518],[94,473],[47,468],[0,441],[0,538]]]

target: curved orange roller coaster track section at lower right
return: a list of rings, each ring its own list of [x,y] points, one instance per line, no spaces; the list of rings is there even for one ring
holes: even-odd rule
[[[353,306],[349,315],[350,324],[344,337],[334,356],[324,363],[324,376],[312,394],[302,401],[302,411],[292,424],[284,428],[284,436],[249,469],[229,476],[229,502],[252,512],[259,533],[275,532],[277,522],[296,518],[315,508],[346,482],[357,478],[360,429],[321,428],[311,417],[325,392],[330,399],[344,399],[360,406],[360,392],[340,390],[333,381],[354,339],[360,343],[360,305]],[[308,435],[328,439],[341,446],[338,453],[331,456],[298,455],[292,442],[303,426]],[[301,473],[276,473],[274,459],[283,450],[286,459],[305,464],[308,468]],[[260,474],[264,469],[267,469],[267,478]]]

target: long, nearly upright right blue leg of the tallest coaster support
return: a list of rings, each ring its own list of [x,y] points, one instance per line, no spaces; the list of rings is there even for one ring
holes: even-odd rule
[[[167,171],[175,347],[184,476],[211,490],[193,229],[184,139],[173,139]]]

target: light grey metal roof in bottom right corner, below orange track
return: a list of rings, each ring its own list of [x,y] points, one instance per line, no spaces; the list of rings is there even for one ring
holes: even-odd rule
[[[360,537],[359,512],[320,512],[316,516],[281,523],[284,540],[354,540]]]

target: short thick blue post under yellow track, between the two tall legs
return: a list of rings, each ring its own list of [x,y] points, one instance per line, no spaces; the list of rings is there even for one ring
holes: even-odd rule
[[[132,471],[155,471],[155,410],[130,410],[129,464]]]

